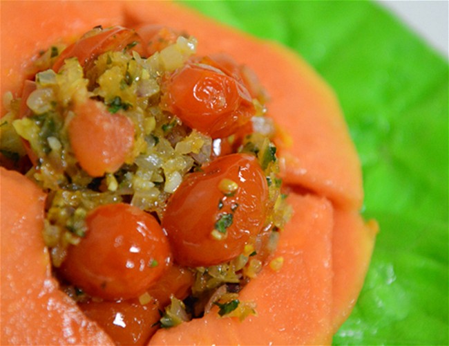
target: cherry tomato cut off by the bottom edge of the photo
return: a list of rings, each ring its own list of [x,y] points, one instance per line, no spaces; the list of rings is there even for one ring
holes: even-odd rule
[[[116,345],[146,345],[158,328],[153,325],[160,319],[160,307],[154,300],[144,305],[138,300],[90,301],[79,303],[79,307]]]

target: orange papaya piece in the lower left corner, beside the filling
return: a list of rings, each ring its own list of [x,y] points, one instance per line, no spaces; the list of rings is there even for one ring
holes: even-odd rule
[[[3,167],[0,179],[1,345],[111,345],[52,278],[41,235],[45,194]]]

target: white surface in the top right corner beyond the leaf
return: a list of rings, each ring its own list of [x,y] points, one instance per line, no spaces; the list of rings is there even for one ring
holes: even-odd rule
[[[444,56],[449,56],[449,0],[396,0],[378,3],[393,12]]]

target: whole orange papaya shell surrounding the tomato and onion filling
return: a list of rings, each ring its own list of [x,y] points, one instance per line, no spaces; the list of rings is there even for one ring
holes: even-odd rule
[[[329,344],[359,295],[376,223],[359,215],[361,166],[338,101],[298,55],[165,1],[6,1],[1,6],[1,97],[21,95],[30,62],[93,26],[162,24],[198,39],[198,53],[227,53],[269,94],[278,156],[294,214],[274,258],[245,286],[257,316],[209,313],[160,329],[151,345]],[[2,102],[3,104],[3,102]],[[6,113],[2,107],[1,115]],[[107,334],[57,289],[41,238],[44,199],[25,176],[1,169],[1,343],[108,344]],[[26,260],[24,260],[26,258]],[[269,262],[269,261],[267,261]]]

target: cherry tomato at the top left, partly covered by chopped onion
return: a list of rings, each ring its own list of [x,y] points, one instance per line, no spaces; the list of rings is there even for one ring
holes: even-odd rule
[[[95,30],[95,29],[94,29]],[[98,33],[86,35],[74,44],[68,46],[53,64],[53,70],[59,71],[64,64],[64,60],[69,57],[77,57],[81,66],[88,68],[88,65],[106,51],[120,51],[122,49],[132,49],[140,55],[144,55],[141,38],[135,30],[114,26],[113,28],[97,28]]]

